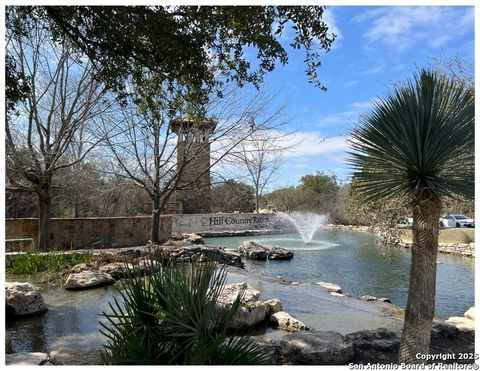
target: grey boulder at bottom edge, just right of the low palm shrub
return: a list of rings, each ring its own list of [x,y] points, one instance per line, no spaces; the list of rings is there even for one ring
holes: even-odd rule
[[[296,332],[280,341],[283,363],[289,365],[344,365],[353,359],[353,346],[335,331]]]

